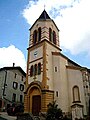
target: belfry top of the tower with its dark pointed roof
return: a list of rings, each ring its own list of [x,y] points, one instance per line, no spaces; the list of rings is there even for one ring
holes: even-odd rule
[[[29,47],[43,40],[59,47],[59,29],[45,10],[30,28]]]

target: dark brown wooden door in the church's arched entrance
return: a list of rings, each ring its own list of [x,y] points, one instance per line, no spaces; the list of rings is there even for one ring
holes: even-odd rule
[[[41,96],[35,95],[32,97],[32,113],[33,113],[33,115],[38,116],[40,110],[41,110]]]

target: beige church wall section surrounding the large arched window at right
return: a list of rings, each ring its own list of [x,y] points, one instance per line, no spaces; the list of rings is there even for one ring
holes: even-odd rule
[[[83,79],[82,79],[82,72],[80,69],[72,69],[67,68],[67,78],[68,78],[68,89],[69,89],[69,109],[71,105],[74,103],[73,98],[73,87],[79,87],[79,95],[80,95],[80,105],[83,105],[83,113],[86,115],[86,103],[85,103],[85,94],[83,88]]]

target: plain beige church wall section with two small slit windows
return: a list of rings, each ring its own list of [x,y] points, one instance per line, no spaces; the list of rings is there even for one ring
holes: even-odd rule
[[[53,55],[54,99],[57,101],[59,107],[63,110],[63,112],[69,112],[66,64],[67,60],[64,57],[60,55]]]

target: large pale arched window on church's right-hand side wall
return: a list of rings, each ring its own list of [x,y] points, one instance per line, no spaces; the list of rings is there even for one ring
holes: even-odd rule
[[[73,102],[80,102],[79,87],[73,87]]]

